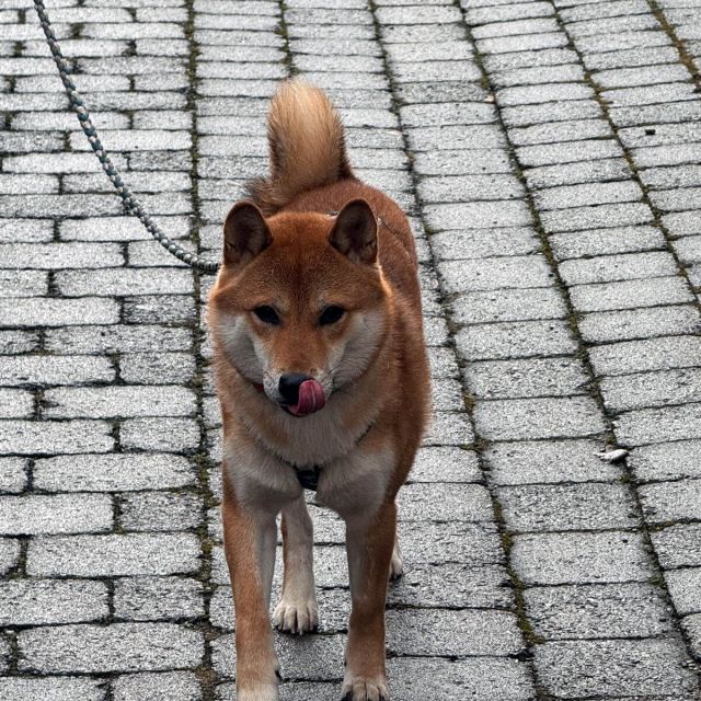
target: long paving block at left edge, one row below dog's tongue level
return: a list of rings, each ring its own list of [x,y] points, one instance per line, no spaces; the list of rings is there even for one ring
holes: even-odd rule
[[[3,421],[0,426],[0,455],[107,452],[114,447],[110,424],[102,421]]]

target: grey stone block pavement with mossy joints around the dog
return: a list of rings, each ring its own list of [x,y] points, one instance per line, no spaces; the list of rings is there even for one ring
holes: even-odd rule
[[[0,699],[230,700],[211,279],[120,216],[30,4],[0,10]],[[699,699],[701,1],[47,4],[186,245],[218,255],[292,72],[412,215],[436,415],[392,698]],[[340,696],[342,529],[312,510],[322,625],[278,637],[287,701]]]

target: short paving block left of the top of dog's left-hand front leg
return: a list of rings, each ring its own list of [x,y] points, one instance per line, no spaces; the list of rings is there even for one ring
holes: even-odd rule
[[[199,497],[187,492],[127,494],[119,505],[119,522],[127,531],[188,530],[200,520]]]

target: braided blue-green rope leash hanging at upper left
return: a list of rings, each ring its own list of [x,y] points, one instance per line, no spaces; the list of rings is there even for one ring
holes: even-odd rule
[[[95,127],[90,119],[90,112],[88,112],[88,108],[83,103],[83,99],[80,96],[80,93],[76,89],[76,83],[73,83],[73,81],[68,76],[68,73],[70,72],[70,66],[61,54],[61,47],[56,39],[54,30],[51,28],[51,21],[48,16],[48,13],[46,12],[46,8],[44,7],[44,0],[34,0],[34,8],[36,9],[42,28],[44,30],[46,42],[51,49],[51,55],[54,56],[54,61],[56,62],[58,72],[61,77],[61,80],[64,81],[64,88],[66,89],[66,94],[68,95],[70,107],[78,115],[80,126],[88,137],[88,141],[90,142],[93,152],[102,164],[102,169],[107,174],[107,177],[114,185],[119,197],[122,197],[122,203],[127,214],[137,217],[149,231],[149,233],[177,260],[189,265],[191,267],[202,271],[203,273],[216,273],[219,269],[219,263],[214,261],[206,261],[205,258],[202,258],[198,255],[186,251],[177,243],[169,239],[159,229],[153,219],[151,219],[151,217],[146,211],[143,211],[141,205],[139,204],[139,200],[134,196],[134,193],[129,189],[129,187],[122,181],[119,172],[114,166],[112,160],[107,156],[107,152],[102,146],[102,141],[97,136],[97,131],[95,130]]]

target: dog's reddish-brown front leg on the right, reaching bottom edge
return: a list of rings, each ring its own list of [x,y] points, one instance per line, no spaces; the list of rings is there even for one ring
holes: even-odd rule
[[[387,701],[384,600],[394,545],[397,507],[383,504],[375,518],[346,520],[350,624],[343,680],[344,701]]]

